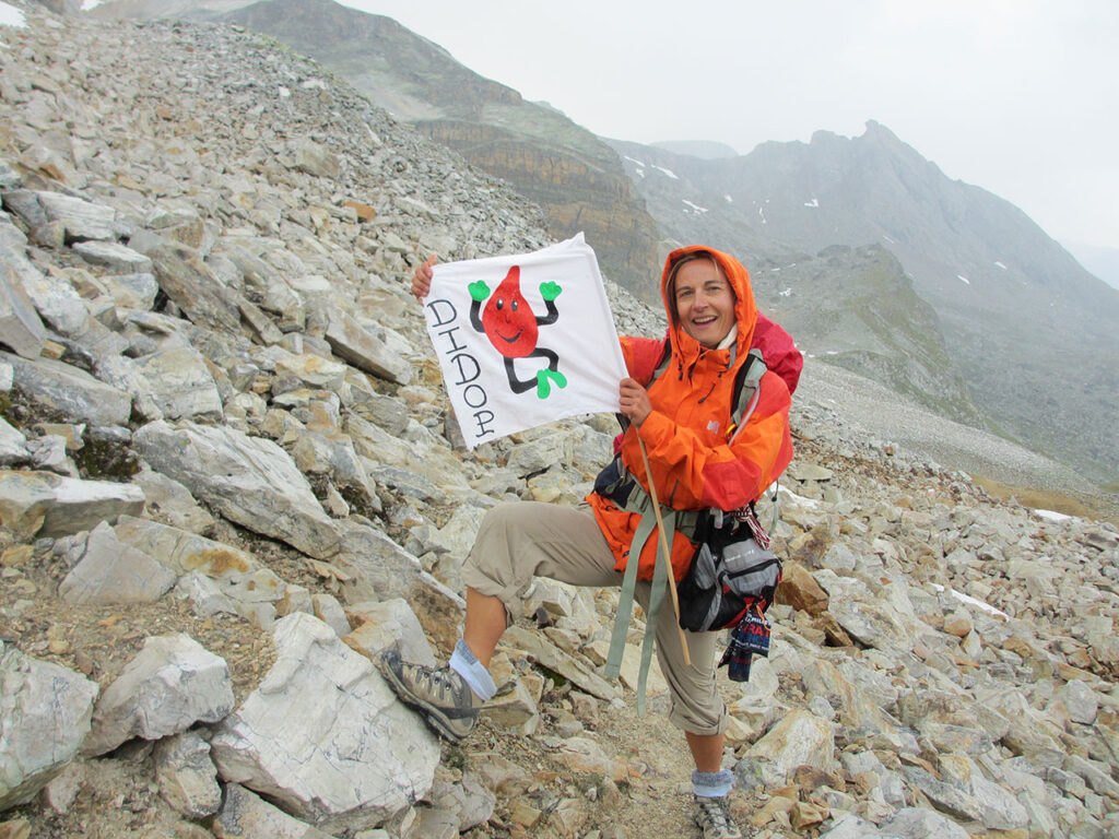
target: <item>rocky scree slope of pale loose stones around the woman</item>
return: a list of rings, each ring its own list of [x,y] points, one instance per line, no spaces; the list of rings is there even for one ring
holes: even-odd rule
[[[445,653],[485,510],[574,503],[610,451],[609,417],[453,445],[407,275],[545,244],[536,211],[258,36],[27,20],[0,32],[0,830],[688,835],[636,647],[598,672],[612,593],[536,586],[461,747],[370,662]],[[722,682],[740,820],[1119,829],[1116,529],[829,398],[798,400],[772,656]]]

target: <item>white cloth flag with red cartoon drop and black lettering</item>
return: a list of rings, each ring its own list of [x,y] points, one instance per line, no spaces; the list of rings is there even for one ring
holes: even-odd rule
[[[424,313],[471,449],[619,409],[626,361],[582,233],[532,254],[435,265]]]

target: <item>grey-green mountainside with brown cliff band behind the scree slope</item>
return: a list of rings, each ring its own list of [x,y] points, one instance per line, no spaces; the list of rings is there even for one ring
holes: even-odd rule
[[[552,237],[584,230],[608,276],[658,302],[648,286],[662,260],[657,224],[613,151],[562,113],[479,76],[392,18],[332,0],[117,0],[91,13],[205,17],[271,35],[539,204]]]

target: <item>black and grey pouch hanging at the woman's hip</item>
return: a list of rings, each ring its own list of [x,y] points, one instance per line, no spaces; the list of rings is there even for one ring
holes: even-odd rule
[[[758,544],[746,521],[708,515],[697,531],[698,547],[677,586],[680,626],[693,632],[736,626],[751,610],[764,612],[781,581],[781,560]]]

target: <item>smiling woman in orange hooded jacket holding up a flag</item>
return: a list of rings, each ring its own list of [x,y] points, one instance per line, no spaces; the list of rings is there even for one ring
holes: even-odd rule
[[[433,263],[434,257],[415,272],[412,291],[420,299],[431,287]],[[619,385],[621,413],[630,423],[620,443],[621,463],[648,490],[640,439],[662,505],[735,510],[759,498],[792,459],[789,386],[765,373],[753,413],[736,430],[731,420],[735,374],[751,347],[761,345],[763,353],[767,345],[781,347],[780,358],[765,360],[771,369],[789,368],[794,385],[799,353],[780,327],[759,318],[746,270],[727,254],[696,246],[674,251],[665,263],[661,294],[669,315],[666,341],[621,340],[630,373]],[[653,379],[658,367],[662,373]],[[490,510],[462,568],[466,630],[449,666],[419,667],[389,653],[384,662],[389,682],[441,734],[452,741],[466,736],[496,691],[487,669],[490,657],[533,577],[619,586],[639,520],[598,492],[577,508],[523,501]],[[684,534],[675,534],[677,579],[694,549]],[[643,582],[636,596],[648,611],[656,539],[637,553]],[[660,611],[657,654],[671,695],[669,719],[684,730],[695,762],[696,821],[705,839],[734,839],[741,833],[726,808],[733,774],[722,767],[727,713],[715,685],[715,641],[713,632],[681,633],[671,610]]]

